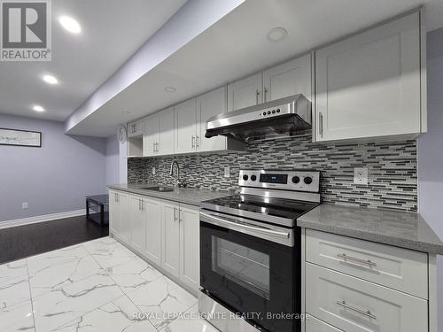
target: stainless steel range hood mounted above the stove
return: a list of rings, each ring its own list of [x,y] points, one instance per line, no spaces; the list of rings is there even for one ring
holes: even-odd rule
[[[269,135],[306,135],[311,123],[311,103],[299,94],[215,115],[206,121],[205,137],[224,135],[245,142]]]

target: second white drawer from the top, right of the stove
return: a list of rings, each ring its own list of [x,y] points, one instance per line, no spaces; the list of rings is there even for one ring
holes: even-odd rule
[[[307,313],[353,332],[428,330],[427,301],[307,263]]]

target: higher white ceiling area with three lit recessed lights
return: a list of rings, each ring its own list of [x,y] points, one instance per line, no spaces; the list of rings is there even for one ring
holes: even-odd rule
[[[52,1],[52,61],[0,62],[0,113],[63,121],[146,42],[186,0]],[[77,19],[81,35],[58,24]],[[60,83],[41,79],[54,74]],[[33,104],[47,111],[32,111]]]

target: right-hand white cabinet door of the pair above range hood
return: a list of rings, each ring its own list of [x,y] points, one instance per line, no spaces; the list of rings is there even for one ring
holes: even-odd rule
[[[311,99],[311,55],[295,58],[263,72],[263,97],[268,102],[303,94]]]

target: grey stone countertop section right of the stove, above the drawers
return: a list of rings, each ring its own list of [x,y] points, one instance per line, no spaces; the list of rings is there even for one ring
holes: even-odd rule
[[[443,255],[443,242],[416,212],[322,204],[297,220],[302,228]]]

